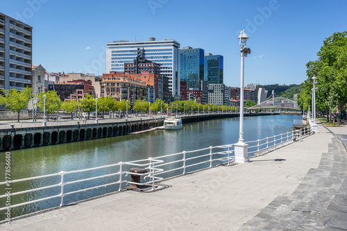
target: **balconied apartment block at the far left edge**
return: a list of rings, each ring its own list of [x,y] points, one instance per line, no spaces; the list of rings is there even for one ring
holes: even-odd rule
[[[0,88],[32,85],[33,28],[0,12]]]

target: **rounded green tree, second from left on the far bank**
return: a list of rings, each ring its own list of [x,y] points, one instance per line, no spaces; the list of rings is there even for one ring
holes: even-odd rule
[[[44,100],[44,95],[46,99]],[[49,114],[53,112],[58,112],[62,106],[62,101],[60,100],[56,91],[40,92],[38,100],[38,108],[43,112],[47,113],[47,120],[49,120]]]

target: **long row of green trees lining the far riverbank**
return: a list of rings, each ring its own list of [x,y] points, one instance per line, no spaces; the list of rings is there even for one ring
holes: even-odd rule
[[[31,87],[26,87],[22,91],[17,89],[1,89],[3,97],[0,97],[0,105],[4,105],[6,109],[12,112],[19,113],[21,110],[28,108],[28,103],[33,97],[33,89]],[[45,96],[45,98],[44,98]],[[97,102],[96,102],[97,101]],[[105,96],[99,99],[94,99],[90,94],[85,95],[83,99],[74,99],[69,101],[61,101],[56,91],[40,92],[37,98],[37,108],[40,111],[45,111],[47,113],[47,118],[49,114],[64,110],[65,112],[71,113],[71,118],[74,112],[85,112],[88,114],[88,119],[90,119],[90,112],[97,111],[105,114],[105,112],[126,112],[126,110],[133,109],[137,113],[149,113],[149,112],[189,112],[189,111],[210,111],[210,112],[230,112],[237,111],[238,108],[234,108],[228,105],[212,105],[212,104],[201,104],[196,101],[173,101],[171,103],[164,103],[161,99],[155,100],[153,104],[150,105],[149,102],[144,99],[137,99],[135,102],[127,102],[125,99],[122,101],[116,101],[112,96]],[[35,108],[35,107],[34,107]]]

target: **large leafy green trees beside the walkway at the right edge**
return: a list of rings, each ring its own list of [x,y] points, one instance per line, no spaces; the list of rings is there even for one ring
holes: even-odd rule
[[[344,110],[347,103],[347,31],[334,33],[323,41],[316,61],[307,62],[307,80],[298,103],[312,105],[312,77],[316,76],[316,109],[330,114]],[[328,116],[328,119],[330,117]]]

